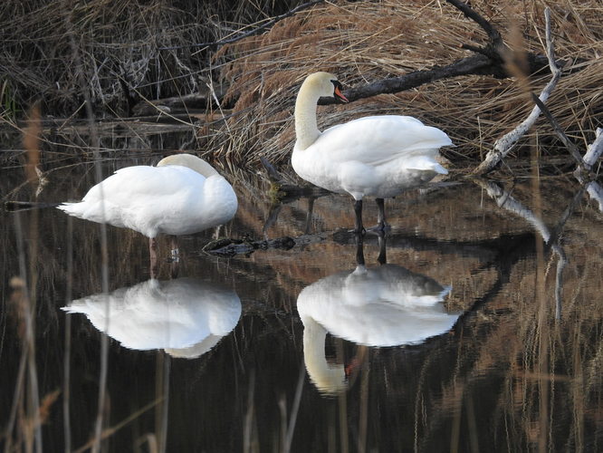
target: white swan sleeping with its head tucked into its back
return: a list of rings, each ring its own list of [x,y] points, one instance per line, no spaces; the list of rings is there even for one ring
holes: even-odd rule
[[[80,202],[58,208],[147,236],[153,262],[159,234],[189,235],[222,225],[235,216],[237,206],[235,190],[211,165],[191,154],[175,154],[157,167],[119,169]]]

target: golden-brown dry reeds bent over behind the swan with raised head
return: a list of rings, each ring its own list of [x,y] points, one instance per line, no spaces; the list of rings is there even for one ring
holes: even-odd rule
[[[472,5],[498,27],[512,48],[543,53],[543,9],[550,2]],[[550,7],[557,54],[569,60],[550,110],[581,145],[592,141],[592,130],[600,126],[597,114],[603,110],[603,5],[570,0]],[[218,156],[238,162],[256,164],[261,155],[284,162],[294,142],[295,95],[308,73],[335,72],[353,87],[452,63],[470,54],[461,44],[480,45],[486,40],[477,24],[445,2],[314,6],[282,20],[269,33],[217,53],[218,58],[231,59],[222,76],[231,86],[227,99],[236,103],[227,140],[224,134],[215,135],[210,146]],[[549,79],[545,73],[533,76],[531,89],[539,92]],[[321,107],[319,123],[327,127],[372,113],[410,114],[451,136],[458,148],[449,158],[479,159],[531,110],[525,94],[522,83],[513,79],[466,76],[346,106]],[[531,134],[554,141],[544,121]]]

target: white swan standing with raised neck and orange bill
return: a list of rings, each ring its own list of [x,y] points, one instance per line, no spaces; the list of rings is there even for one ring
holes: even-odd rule
[[[302,83],[295,101],[292,166],[303,179],[332,192],[349,193],[355,200],[355,231],[362,226],[362,198],[376,197],[378,229],[387,227],[383,198],[426,183],[448,171],[437,161],[438,149],[452,145],[442,130],[416,118],[368,116],[321,132],[316,104],[321,96],[337,97],[341,83],[333,74],[315,72]]]

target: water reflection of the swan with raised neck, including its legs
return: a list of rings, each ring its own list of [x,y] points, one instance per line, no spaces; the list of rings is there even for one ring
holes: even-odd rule
[[[385,256],[385,239],[379,242]],[[348,384],[343,364],[327,361],[327,333],[362,346],[414,344],[449,331],[460,315],[445,310],[450,286],[399,265],[366,267],[361,238],[358,247],[355,269],[326,276],[297,298],[306,370],[326,394]]]

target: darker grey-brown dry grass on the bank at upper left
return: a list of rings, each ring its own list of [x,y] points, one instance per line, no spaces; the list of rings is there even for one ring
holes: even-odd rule
[[[278,5],[274,5],[277,3]],[[123,79],[138,99],[205,88],[207,47],[295,2],[5,0],[0,5],[0,112],[42,100],[44,114],[81,108],[84,74],[97,114],[125,111]],[[72,52],[81,54],[81,64]],[[175,48],[176,47],[176,48]]]

